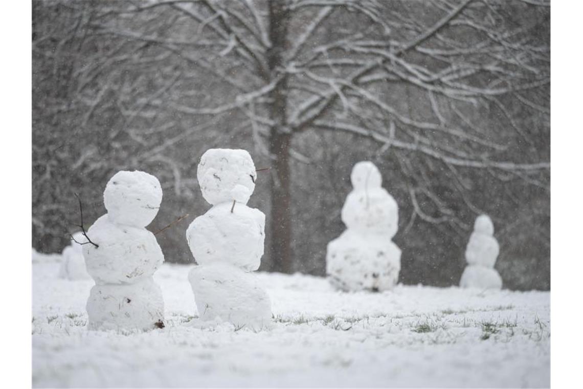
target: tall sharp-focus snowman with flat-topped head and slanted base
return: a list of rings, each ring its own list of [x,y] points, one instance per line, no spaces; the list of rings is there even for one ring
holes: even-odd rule
[[[257,172],[246,150],[209,149],[196,171],[202,196],[213,205],[188,226],[198,266],[188,275],[202,320],[237,328],[271,325],[271,301],[255,281],[264,251],[265,215],[247,206]]]

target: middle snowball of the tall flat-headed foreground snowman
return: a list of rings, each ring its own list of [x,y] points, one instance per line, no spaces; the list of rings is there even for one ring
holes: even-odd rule
[[[253,271],[264,253],[264,229],[263,212],[244,204],[223,203],[196,218],[186,236],[199,265],[222,262]]]

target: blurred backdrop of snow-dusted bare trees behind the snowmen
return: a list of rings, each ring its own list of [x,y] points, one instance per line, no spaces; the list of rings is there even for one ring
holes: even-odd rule
[[[262,269],[323,275],[350,170],[400,207],[404,283],[452,285],[479,213],[512,289],[550,288],[550,7],[538,0],[33,2],[33,247],[105,212],[115,171],[163,185],[166,260],[209,208],[196,164],[250,150]]]

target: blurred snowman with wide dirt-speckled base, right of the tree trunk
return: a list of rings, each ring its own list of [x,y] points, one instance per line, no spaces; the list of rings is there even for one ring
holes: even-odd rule
[[[347,228],[328,243],[326,274],[346,291],[391,289],[401,270],[401,250],[391,241],[399,221],[397,203],[381,187],[381,173],[372,162],[354,165],[350,181],[353,190],[341,215]]]

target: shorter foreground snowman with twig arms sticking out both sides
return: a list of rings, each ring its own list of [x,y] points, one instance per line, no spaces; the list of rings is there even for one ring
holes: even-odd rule
[[[158,179],[119,171],[103,193],[107,213],[87,231],[87,272],[95,280],[87,301],[91,330],[150,330],[164,326],[164,300],[153,275],[164,261],[146,230],[162,201]]]

